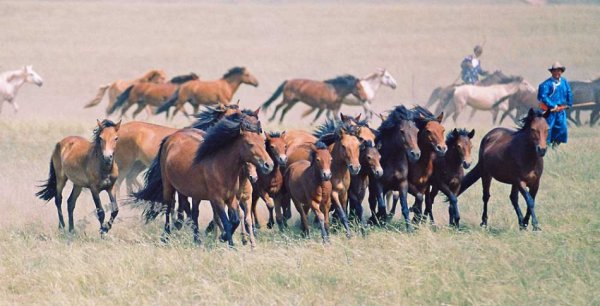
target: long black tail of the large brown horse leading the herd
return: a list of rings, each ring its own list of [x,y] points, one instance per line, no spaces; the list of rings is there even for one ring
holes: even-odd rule
[[[158,154],[156,158],[152,161],[150,168],[146,172],[144,177],[145,185],[142,189],[133,193],[133,198],[138,201],[148,201],[151,202],[144,209],[143,216],[146,219],[146,222],[150,222],[158,216],[160,211],[156,211],[154,209],[154,203],[162,203],[163,202],[163,182],[162,182],[162,174],[160,171],[160,158],[161,153],[164,147],[165,142],[168,137],[162,140],[160,144],[160,148],[158,149]]]

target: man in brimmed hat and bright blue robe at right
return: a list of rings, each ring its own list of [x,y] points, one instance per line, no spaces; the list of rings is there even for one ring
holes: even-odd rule
[[[573,106],[573,93],[567,79],[562,77],[565,67],[556,62],[548,68],[552,77],[545,80],[538,88],[540,108],[550,110],[546,118],[548,122],[548,144],[558,145],[567,142],[567,114],[565,109]]]

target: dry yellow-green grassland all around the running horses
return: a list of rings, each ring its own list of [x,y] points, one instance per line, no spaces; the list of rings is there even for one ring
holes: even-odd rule
[[[143,225],[140,212],[127,208],[101,240],[87,192],[71,239],[56,229],[54,205],[33,196],[54,143],[66,135],[91,137],[104,108],[82,106],[97,86],[149,68],[212,79],[245,65],[261,84],[240,88],[236,97],[255,108],[286,78],[362,76],[384,66],[399,88],[381,90],[375,107],[383,111],[424,101],[434,86],[451,82],[460,59],[484,39],[486,69],[538,83],[558,59],[569,79],[595,77],[599,13],[596,6],[509,1],[2,2],[1,70],[33,64],[45,84],[22,89],[18,115],[6,106],[0,115],[0,304],[599,304],[597,129],[572,129],[570,143],[546,157],[541,233],[518,230],[509,188],[498,183],[485,231],[478,226],[476,184],[460,198],[460,232],[443,226],[447,210],[438,202],[439,228],[409,235],[394,224],[351,240],[334,234],[323,246],[316,231],[301,239],[292,222],[284,234],[263,229],[255,251],[239,237],[235,250],[212,237],[196,247],[189,229],[161,245],[162,222]],[[304,109],[298,106],[290,119]],[[488,118],[474,124],[475,149]],[[205,225],[208,205],[201,210]]]

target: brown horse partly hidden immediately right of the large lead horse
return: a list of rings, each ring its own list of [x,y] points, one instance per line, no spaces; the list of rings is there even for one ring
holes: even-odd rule
[[[287,156],[285,155],[287,146],[283,138],[286,132],[283,133],[265,133],[265,147],[271,159],[275,162],[275,168],[269,174],[258,173],[258,182],[255,185],[252,194],[252,216],[256,228],[260,228],[256,215],[256,204],[258,198],[263,199],[269,209],[269,221],[267,228],[272,228],[274,224],[273,207],[277,206],[277,219],[280,226],[283,224],[283,216],[281,214],[283,174],[287,166]]]

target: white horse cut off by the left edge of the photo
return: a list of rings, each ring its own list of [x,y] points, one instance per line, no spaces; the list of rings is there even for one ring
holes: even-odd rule
[[[19,105],[15,102],[15,97],[23,84],[34,83],[37,86],[42,86],[43,82],[42,77],[33,71],[31,65],[0,74],[0,113],[4,101],[12,104],[15,113],[19,111]]]

